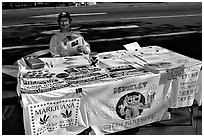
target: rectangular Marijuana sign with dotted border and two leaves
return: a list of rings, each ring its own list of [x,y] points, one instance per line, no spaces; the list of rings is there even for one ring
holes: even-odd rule
[[[28,105],[31,132],[40,135],[58,128],[78,126],[80,98]]]

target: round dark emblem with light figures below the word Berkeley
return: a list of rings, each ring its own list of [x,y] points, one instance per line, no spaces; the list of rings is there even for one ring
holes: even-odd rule
[[[139,92],[131,92],[119,99],[116,113],[122,119],[131,119],[143,112],[144,105],[145,97]]]

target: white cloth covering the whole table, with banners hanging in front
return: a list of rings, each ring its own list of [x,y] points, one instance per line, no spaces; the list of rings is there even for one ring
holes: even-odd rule
[[[92,127],[94,134],[108,134],[170,119],[169,107],[191,106],[194,99],[201,104],[200,61],[158,46],[141,51],[100,53],[97,67],[88,56],[41,58],[48,65],[38,70],[19,60],[25,133],[70,135]],[[184,65],[184,75],[168,79],[166,71],[145,71],[154,60]]]

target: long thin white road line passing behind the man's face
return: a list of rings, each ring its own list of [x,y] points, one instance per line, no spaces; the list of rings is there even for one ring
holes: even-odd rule
[[[114,21],[114,20],[137,20],[137,19],[162,19],[162,18],[181,18],[181,17],[196,17],[202,16],[202,14],[189,14],[189,15],[171,15],[171,16],[152,16],[152,17],[135,17],[135,18],[116,18],[116,19],[100,19],[100,20],[83,20],[83,21],[74,21],[75,23],[81,22],[98,22],[98,21]],[[57,23],[52,23],[57,24]],[[10,25],[10,26],[2,26],[2,28],[9,27],[19,27],[19,26],[34,26],[34,25],[47,25],[46,23],[36,23],[36,24],[20,24],[20,25]]]

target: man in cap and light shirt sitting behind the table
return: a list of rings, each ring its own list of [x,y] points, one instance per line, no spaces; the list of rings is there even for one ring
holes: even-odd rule
[[[58,15],[60,32],[55,34],[50,40],[50,52],[52,57],[64,57],[81,54],[89,54],[90,45],[84,40],[83,36],[71,32],[71,17],[68,12]]]

